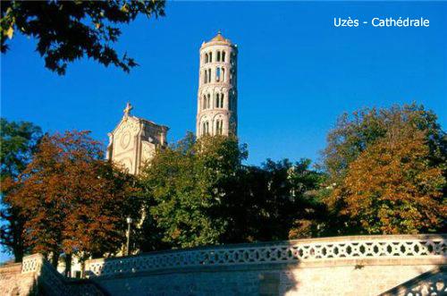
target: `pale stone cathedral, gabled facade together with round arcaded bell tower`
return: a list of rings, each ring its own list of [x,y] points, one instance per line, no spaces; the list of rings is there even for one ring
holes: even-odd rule
[[[238,47],[217,33],[199,50],[196,135],[236,135]],[[122,120],[108,133],[107,159],[138,174],[157,148],[167,145],[168,127],[131,115],[131,104]]]

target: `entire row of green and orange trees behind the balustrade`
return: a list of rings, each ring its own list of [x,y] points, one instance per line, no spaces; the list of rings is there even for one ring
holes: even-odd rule
[[[310,160],[244,165],[235,137],[158,148],[139,176],[103,160],[86,131],[40,139],[2,120],[2,240],[52,255],[113,255],[125,217],[137,249],[446,229],[446,135],[423,106],[363,109],[328,135],[324,172]],[[15,244],[15,245],[14,245]],[[15,247],[14,247],[15,246]],[[16,258],[17,259],[17,258]]]

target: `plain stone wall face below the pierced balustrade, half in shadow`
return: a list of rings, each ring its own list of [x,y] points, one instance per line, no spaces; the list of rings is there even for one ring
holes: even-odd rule
[[[279,267],[279,266],[278,266]],[[378,295],[434,268],[424,266],[284,266],[96,279],[112,295]]]

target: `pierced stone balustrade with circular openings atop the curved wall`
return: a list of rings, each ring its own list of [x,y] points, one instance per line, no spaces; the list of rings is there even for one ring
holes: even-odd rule
[[[236,244],[169,250],[86,263],[86,275],[105,276],[195,266],[315,262],[326,259],[445,258],[447,235],[375,235]]]

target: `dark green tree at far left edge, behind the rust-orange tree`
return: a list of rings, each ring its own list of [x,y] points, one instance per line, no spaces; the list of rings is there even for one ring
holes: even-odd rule
[[[14,123],[0,119],[0,182],[7,185],[17,181],[30,163],[41,135],[40,128],[32,123]],[[17,208],[5,202],[4,197],[9,190],[4,185],[0,188],[0,217],[3,222],[0,227],[0,241],[6,249],[13,252],[15,261],[19,262],[25,252],[22,238],[24,218]]]

